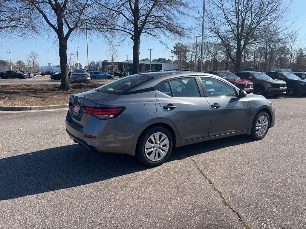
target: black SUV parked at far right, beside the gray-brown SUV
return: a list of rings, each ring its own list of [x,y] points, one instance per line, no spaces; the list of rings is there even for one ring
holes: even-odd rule
[[[297,93],[306,95],[306,80],[292,74],[291,72],[266,72],[272,79],[280,79],[287,83],[287,95],[295,96]]]

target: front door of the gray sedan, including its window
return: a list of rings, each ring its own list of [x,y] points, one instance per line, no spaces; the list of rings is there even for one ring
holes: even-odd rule
[[[248,100],[237,98],[236,89],[226,82],[212,77],[200,78],[211,109],[209,136],[245,130],[249,119]]]

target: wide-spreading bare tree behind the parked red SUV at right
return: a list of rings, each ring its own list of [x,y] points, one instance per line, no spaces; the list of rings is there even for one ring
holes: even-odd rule
[[[285,0],[210,0],[207,8],[207,29],[218,37],[240,71],[242,53],[247,45],[261,42],[262,35],[271,27],[285,30],[291,1]],[[235,50],[235,53],[231,52]]]

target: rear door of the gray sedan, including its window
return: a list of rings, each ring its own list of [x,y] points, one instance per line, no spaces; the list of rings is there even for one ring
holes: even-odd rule
[[[156,99],[175,125],[182,141],[208,136],[211,110],[196,77],[181,77],[159,84]]]

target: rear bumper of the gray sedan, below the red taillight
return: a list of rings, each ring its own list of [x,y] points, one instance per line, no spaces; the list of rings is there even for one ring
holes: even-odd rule
[[[99,120],[92,116],[88,126],[81,127],[72,120],[68,111],[65,122],[68,135],[76,143],[99,153],[135,155],[138,137],[144,130],[120,116],[109,120]],[[85,137],[85,134],[96,138]]]

